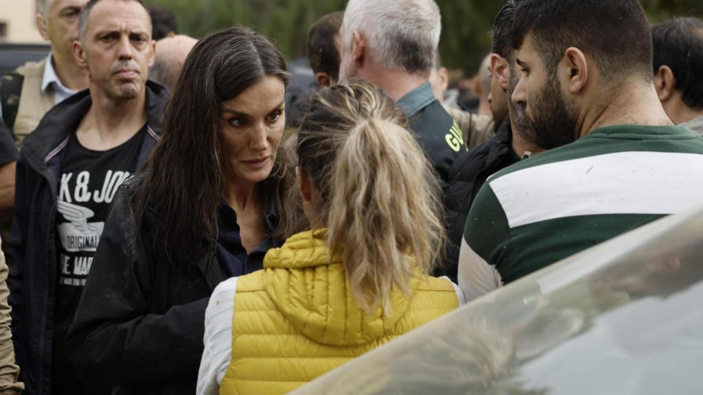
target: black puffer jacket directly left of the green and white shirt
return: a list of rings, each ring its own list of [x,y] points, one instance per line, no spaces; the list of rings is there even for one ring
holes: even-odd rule
[[[449,248],[446,262],[456,276],[461,239],[469,209],[479,189],[492,174],[520,160],[512,150],[510,119],[505,119],[496,136],[462,154],[449,171],[449,188],[444,193]]]

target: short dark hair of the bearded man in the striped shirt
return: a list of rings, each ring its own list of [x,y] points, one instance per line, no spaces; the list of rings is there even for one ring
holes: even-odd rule
[[[528,32],[550,75],[575,46],[610,84],[631,75],[652,81],[650,25],[639,0],[522,0],[512,22],[512,48],[519,49]]]

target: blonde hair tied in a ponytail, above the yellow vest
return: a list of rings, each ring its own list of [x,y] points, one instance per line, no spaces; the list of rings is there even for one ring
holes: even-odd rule
[[[406,118],[373,85],[323,89],[302,122],[298,155],[356,302],[390,313],[392,290],[409,294],[415,270],[430,273],[444,244],[437,176]]]

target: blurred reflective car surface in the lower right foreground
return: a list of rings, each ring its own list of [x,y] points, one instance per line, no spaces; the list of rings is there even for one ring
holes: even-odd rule
[[[703,209],[486,294],[293,394],[703,394]]]

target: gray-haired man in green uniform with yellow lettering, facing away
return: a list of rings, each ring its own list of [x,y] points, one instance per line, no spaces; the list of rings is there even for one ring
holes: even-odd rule
[[[340,32],[340,79],[365,79],[384,89],[410,118],[418,143],[446,183],[451,164],[466,145],[427,81],[441,33],[437,4],[349,0]]]

